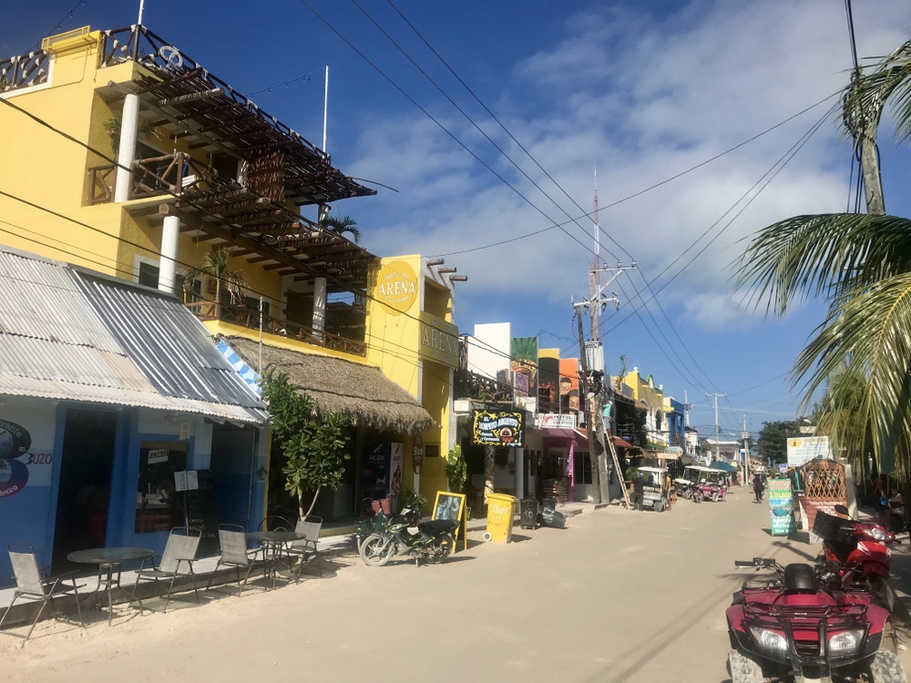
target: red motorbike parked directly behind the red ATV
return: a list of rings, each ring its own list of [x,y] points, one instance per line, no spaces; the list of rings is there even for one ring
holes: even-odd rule
[[[898,543],[896,535],[881,525],[851,519],[844,505],[835,505],[835,512],[842,516],[816,513],[813,532],[823,539],[817,574],[827,585],[868,586],[885,600],[892,557],[888,546]]]

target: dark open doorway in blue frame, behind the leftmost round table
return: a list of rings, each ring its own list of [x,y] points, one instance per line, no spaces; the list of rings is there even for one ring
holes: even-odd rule
[[[67,410],[54,529],[55,572],[67,568],[67,553],[106,545],[117,423],[118,413]]]

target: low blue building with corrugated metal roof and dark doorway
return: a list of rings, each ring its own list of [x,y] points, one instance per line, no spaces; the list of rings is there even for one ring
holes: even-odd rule
[[[265,406],[192,312],[2,247],[0,280],[0,548],[31,544],[56,570],[88,547],[160,553],[194,480],[209,490],[203,546],[218,523],[256,528]],[[0,553],[0,585],[11,574]]]

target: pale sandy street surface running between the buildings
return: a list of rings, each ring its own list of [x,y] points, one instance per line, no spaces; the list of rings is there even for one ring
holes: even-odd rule
[[[119,607],[112,628],[98,613],[84,631],[48,621],[24,648],[0,634],[3,677],[720,682],[724,609],[745,576],[733,561],[816,553],[768,525],[768,506],[741,487],[717,504],[609,508],[564,531],[517,529],[516,543],[477,543],[442,566],[341,557],[325,578],[268,593],[141,618]]]

